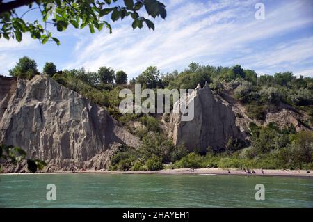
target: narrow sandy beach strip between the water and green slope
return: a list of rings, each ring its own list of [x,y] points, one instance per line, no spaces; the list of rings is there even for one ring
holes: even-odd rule
[[[228,172],[230,171],[230,173]],[[272,177],[302,177],[313,179],[313,171],[301,170],[300,173],[297,170],[294,171],[281,171],[281,170],[263,170],[264,174],[261,173],[260,169],[255,170],[255,174],[247,174],[246,172],[237,169],[223,169],[223,168],[198,168],[191,170],[190,168],[178,168],[178,169],[167,169],[161,171],[75,171],[75,173],[104,173],[104,174],[156,174],[156,175],[241,175],[241,176],[272,176]],[[307,173],[310,171],[310,173]],[[0,175],[29,175],[29,174],[68,174],[72,171],[55,171],[51,173],[38,172],[38,173],[0,173]]]

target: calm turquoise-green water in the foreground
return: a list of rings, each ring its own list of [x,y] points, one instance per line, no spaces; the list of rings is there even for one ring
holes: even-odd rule
[[[56,185],[56,201],[46,199]],[[255,200],[264,184],[265,200]],[[313,207],[313,180],[234,175],[0,175],[0,207]]]

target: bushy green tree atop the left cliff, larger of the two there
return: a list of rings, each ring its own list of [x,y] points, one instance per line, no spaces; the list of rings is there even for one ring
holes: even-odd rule
[[[15,68],[10,69],[9,73],[13,77],[23,79],[31,79],[35,74],[38,74],[37,63],[27,56],[19,58]]]

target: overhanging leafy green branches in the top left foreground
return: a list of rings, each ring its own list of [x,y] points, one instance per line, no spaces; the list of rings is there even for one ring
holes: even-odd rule
[[[113,22],[129,16],[133,29],[143,27],[145,23],[149,29],[154,30],[154,24],[139,13],[145,9],[147,15],[154,19],[161,16],[166,18],[166,6],[157,0],[124,0],[123,5],[116,3],[118,0],[25,0],[25,1],[0,1],[0,38],[9,40],[13,38],[18,42],[22,41],[23,33],[30,33],[31,37],[40,40],[42,44],[47,41],[54,41],[57,45],[60,41],[52,36],[50,28],[56,27],[57,31],[65,31],[72,25],[75,29],[83,29],[88,26],[90,33],[95,29],[101,31],[105,26],[112,32],[111,25],[104,18],[111,18]],[[112,3],[113,2],[113,3]],[[114,4],[115,3],[115,4]],[[113,6],[112,6],[113,5]],[[16,8],[29,6],[29,9],[22,15],[18,15]],[[42,22],[35,20],[29,22],[24,20],[27,13],[40,12]],[[52,17],[52,19],[50,19]]]

